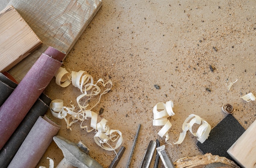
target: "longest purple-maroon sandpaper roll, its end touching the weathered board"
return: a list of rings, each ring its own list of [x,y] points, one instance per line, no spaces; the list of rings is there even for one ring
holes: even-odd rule
[[[49,47],[0,107],[0,149],[54,77],[65,53]],[[56,60],[57,59],[57,60]]]

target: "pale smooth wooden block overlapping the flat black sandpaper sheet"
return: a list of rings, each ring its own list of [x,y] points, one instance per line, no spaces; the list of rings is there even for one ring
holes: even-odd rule
[[[256,120],[227,150],[227,153],[244,168],[256,168]]]

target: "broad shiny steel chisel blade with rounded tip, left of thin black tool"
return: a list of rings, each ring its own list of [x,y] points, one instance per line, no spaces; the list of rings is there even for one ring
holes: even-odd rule
[[[153,140],[149,142],[148,148],[146,150],[146,153],[144,155],[141,168],[148,168],[150,166],[151,159],[153,157],[153,154],[155,152],[155,147],[157,146],[157,143]]]

